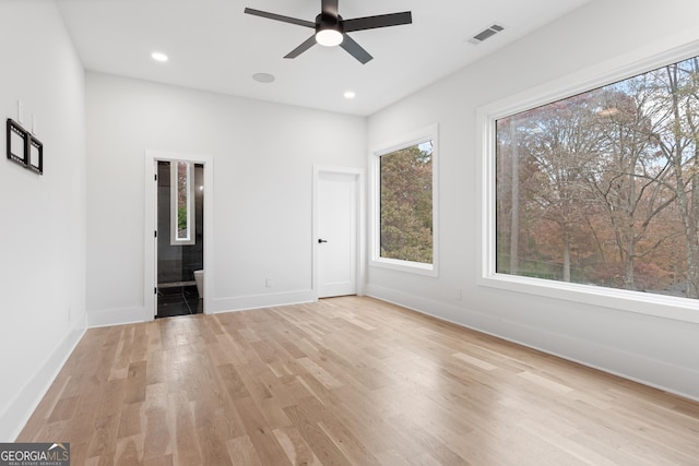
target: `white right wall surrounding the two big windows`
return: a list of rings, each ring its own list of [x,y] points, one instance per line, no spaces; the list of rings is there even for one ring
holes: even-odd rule
[[[696,40],[698,15],[695,0],[599,0],[370,117],[369,147],[439,123],[441,255],[438,278],[370,267],[367,292],[699,398],[699,325],[476,284],[477,109]]]

